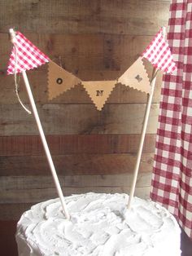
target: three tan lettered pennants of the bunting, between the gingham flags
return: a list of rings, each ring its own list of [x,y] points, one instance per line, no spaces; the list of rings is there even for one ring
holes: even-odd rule
[[[151,93],[150,80],[141,57],[119,79],[114,81],[81,82],[81,79],[59,67],[53,61],[50,61],[48,67],[49,99],[61,95],[63,92],[70,90],[80,83],[84,86],[98,110],[102,110],[103,105],[106,103],[117,82],[145,93]]]

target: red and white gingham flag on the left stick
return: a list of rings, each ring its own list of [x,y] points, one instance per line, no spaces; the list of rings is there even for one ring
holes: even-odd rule
[[[49,62],[49,58],[24,35],[16,32],[15,46],[11,51],[7,74],[21,73]]]

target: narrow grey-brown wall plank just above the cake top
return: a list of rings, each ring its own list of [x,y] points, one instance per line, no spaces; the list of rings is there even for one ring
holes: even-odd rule
[[[59,183],[63,188],[85,187],[130,187],[133,174],[109,174],[109,175],[68,175],[59,176]],[[139,173],[137,188],[151,186],[151,172]],[[52,176],[1,176],[0,192],[20,189],[55,188]],[[1,196],[0,196],[1,198]]]

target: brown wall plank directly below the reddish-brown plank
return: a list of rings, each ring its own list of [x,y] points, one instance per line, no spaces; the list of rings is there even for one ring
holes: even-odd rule
[[[140,166],[141,172],[152,170],[154,153],[144,153]],[[60,175],[74,174],[124,174],[133,171],[135,154],[76,154],[54,156],[53,161]],[[49,175],[50,169],[46,157],[0,157],[0,174]]]

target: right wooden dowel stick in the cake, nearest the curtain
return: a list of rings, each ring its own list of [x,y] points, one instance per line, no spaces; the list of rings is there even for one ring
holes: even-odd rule
[[[132,186],[131,186],[131,190],[129,193],[128,209],[130,209],[130,207],[131,207],[131,202],[133,200],[133,195],[135,192],[138,169],[139,169],[139,165],[140,165],[140,161],[141,161],[141,157],[142,157],[142,148],[143,148],[143,143],[144,143],[144,139],[145,139],[145,135],[146,135],[146,126],[147,126],[148,119],[150,116],[151,102],[152,102],[153,94],[154,94],[156,75],[157,75],[157,69],[154,69],[153,74],[152,74],[152,80],[151,80],[151,93],[148,96],[148,101],[146,104],[146,113],[145,113],[144,121],[142,124],[142,134],[141,134],[141,139],[140,139],[139,148],[138,148],[138,152],[137,152],[137,160],[136,160],[136,164],[135,164],[135,168],[134,168],[134,172],[133,172]]]

